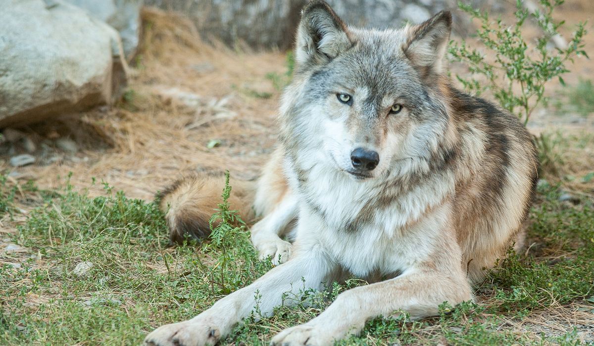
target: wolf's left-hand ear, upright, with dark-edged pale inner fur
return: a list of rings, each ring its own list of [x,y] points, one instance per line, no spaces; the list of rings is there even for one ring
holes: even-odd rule
[[[295,45],[296,62],[324,64],[350,47],[345,23],[324,1],[312,1],[301,12]]]

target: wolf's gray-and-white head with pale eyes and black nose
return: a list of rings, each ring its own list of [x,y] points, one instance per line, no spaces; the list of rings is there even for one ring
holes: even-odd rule
[[[448,128],[440,80],[450,30],[450,12],[380,31],[347,27],[323,1],[307,5],[281,109],[299,166],[370,179],[429,160]]]

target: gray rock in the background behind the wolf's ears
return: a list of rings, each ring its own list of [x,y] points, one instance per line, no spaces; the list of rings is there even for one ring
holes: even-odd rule
[[[206,40],[230,46],[245,42],[254,49],[287,49],[293,43],[301,8],[307,0],[145,0],[146,5],[188,15]],[[419,23],[441,9],[456,9],[456,0],[327,0],[348,24],[399,27]],[[454,18],[460,30],[466,25]]]

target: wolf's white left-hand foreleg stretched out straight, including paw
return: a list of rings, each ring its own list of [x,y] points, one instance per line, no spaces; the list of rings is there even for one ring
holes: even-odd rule
[[[144,339],[144,344],[214,345],[252,311],[270,316],[274,306],[292,304],[295,296],[301,296],[309,288],[320,289],[333,269],[322,249],[309,247],[296,253],[285,264],[271,269],[253,284],[217,301],[195,318],[157,328]],[[283,296],[287,299],[283,300]]]

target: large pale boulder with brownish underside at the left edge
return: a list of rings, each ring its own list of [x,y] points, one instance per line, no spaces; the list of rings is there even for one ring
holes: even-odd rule
[[[0,128],[110,104],[126,82],[118,32],[58,0],[2,0]]]

